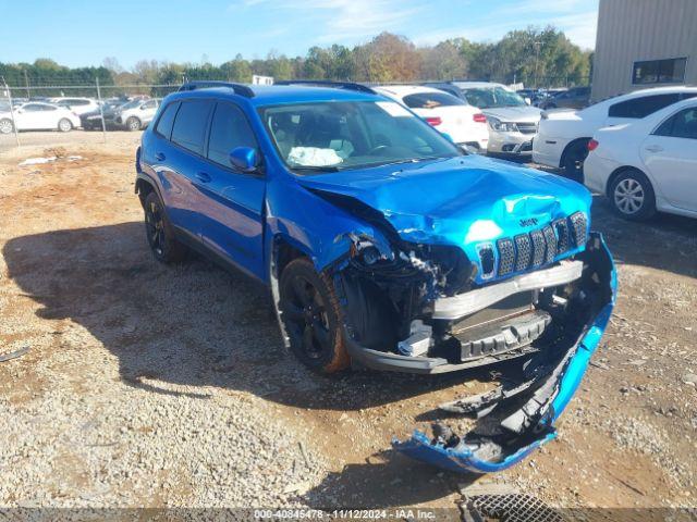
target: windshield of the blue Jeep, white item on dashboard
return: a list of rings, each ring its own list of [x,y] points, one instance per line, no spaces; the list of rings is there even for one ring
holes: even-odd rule
[[[330,172],[453,158],[463,152],[393,101],[326,101],[259,110],[295,172]]]

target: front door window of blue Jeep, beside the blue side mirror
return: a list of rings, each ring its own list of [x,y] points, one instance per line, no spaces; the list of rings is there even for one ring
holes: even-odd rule
[[[208,159],[230,167],[230,152],[237,147],[257,148],[254,130],[242,110],[231,103],[216,104],[208,139]]]

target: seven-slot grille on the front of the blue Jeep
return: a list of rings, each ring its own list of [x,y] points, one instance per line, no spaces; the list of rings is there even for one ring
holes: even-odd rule
[[[494,256],[491,244],[481,245],[478,251],[482,276],[484,278],[493,276],[494,260],[496,273],[503,276],[552,263],[560,253],[582,247],[587,241],[588,220],[583,212],[576,212],[570,217],[555,220],[529,234],[498,239],[496,243],[498,258]]]

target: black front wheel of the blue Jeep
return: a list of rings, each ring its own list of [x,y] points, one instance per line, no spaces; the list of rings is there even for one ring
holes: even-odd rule
[[[291,349],[303,364],[319,373],[335,373],[351,363],[342,312],[329,277],[306,258],[291,261],[280,281],[280,312]]]

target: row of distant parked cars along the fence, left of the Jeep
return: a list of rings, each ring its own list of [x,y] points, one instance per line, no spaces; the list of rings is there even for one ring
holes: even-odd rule
[[[47,101],[29,101],[0,104],[0,134],[14,130],[70,132],[102,128],[102,114],[107,128],[139,130],[152,121],[159,101],[137,97],[132,100],[108,100],[101,107],[89,98],[51,98]],[[13,123],[14,122],[14,123]]]

